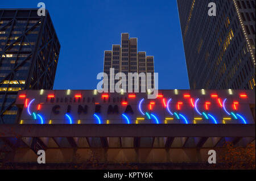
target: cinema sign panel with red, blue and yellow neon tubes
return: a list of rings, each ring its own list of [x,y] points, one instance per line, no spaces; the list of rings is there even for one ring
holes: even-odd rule
[[[182,90],[165,90],[156,99],[147,99],[142,93],[102,93],[85,95],[72,90],[59,94],[20,92],[17,104],[23,105],[23,124],[251,124],[248,115],[250,100],[246,91],[227,94],[193,94]],[[61,92],[61,91],[60,91]],[[71,92],[71,91],[70,91]],[[69,92],[69,93],[70,93]],[[216,92],[216,91],[215,91]],[[25,97],[24,97],[25,95]],[[234,96],[237,95],[237,96]],[[67,97],[69,96],[69,97]],[[122,97],[121,97],[122,96]],[[26,98],[26,99],[25,99]],[[48,99],[51,100],[48,100]],[[108,101],[105,101],[108,99]],[[19,103],[20,102],[20,103]],[[142,121],[143,120],[143,121]]]

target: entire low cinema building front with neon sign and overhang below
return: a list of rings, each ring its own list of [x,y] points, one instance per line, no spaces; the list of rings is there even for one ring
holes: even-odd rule
[[[255,144],[254,90],[159,90],[156,99],[141,92],[24,90],[16,105],[19,124],[0,127],[8,163],[39,166],[43,149],[48,164],[93,159],[160,168],[208,164],[208,151],[225,141]]]

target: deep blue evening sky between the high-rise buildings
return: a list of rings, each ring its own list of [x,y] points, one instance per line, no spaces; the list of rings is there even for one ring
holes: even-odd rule
[[[46,3],[61,44],[53,89],[96,89],[104,50],[121,33],[138,37],[138,50],[155,57],[159,89],[189,89],[176,0],[1,1],[0,8]]]

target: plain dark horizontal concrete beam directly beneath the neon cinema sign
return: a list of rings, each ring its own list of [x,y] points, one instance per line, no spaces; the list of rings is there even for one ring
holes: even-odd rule
[[[12,132],[6,130],[12,129]],[[255,124],[3,124],[0,137],[255,137]]]

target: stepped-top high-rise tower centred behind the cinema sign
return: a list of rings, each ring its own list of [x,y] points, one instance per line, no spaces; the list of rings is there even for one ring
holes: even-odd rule
[[[151,73],[151,86],[154,84],[154,56],[146,56],[146,52],[138,52],[137,38],[129,38],[129,33],[121,34],[121,46],[112,45],[112,50],[106,50],[104,53],[104,73],[108,74],[110,79],[110,68],[114,68],[114,73],[125,73],[126,75],[126,89],[128,90],[128,73]],[[113,83],[117,83],[115,80]],[[147,81],[147,79],[146,79]],[[109,81],[110,85],[110,81]],[[146,83],[144,84],[146,85]],[[137,82],[133,82],[137,86]],[[139,78],[139,90],[141,90],[142,82]],[[147,87],[145,87],[147,89]]]

